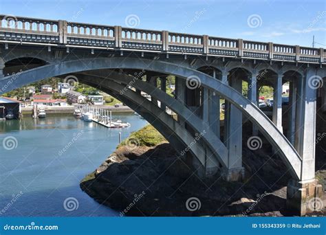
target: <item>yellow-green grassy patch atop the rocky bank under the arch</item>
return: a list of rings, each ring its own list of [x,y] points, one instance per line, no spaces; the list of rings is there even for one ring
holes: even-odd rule
[[[166,142],[163,135],[161,135],[151,124],[144,126],[139,131],[131,133],[127,139],[124,139],[124,141],[119,144],[118,147],[127,145],[129,139],[135,139],[139,146],[148,147]]]

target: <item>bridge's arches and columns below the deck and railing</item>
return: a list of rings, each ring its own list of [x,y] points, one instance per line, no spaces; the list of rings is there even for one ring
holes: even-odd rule
[[[321,192],[312,190],[319,187],[314,166],[316,97],[319,91],[312,87],[310,78],[326,77],[325,69],[265,63],[255,65],[253,61],[153,60],[134,55],[89,58],[83,53],[78,56],[78,59],[67,58],[58,63],[56,58],[45,54],[43,60],[35,60],[39,67],[37,63],[8,63],[6,67],[6,61],[3,61],[0,93],[45,78],[73,75],[79,82],[111,94],[140,113],[180,155],[187,156],[199,176],[212,177],[219,172],[227,181],[243,180],[244,177],[242,124],[243,117],[246,117],[253,124],[252,139],[260,139],[259,131],[292,174],[293,180],[287,190],[289,208],[305,214],[306,199]],[[10,57],[8,55],[8,61],[12,60]],[[16,74],[6,76],[12,72]],[[170,75],[176,77],[174,97],[166,93],[166,77]],[[246,96],[241,93],[243,80],[248,82]],[[290,82],[287,133],[283,133],[282,124],[281,91],[284,82]],[[259,87],[265,84],[274,87],[272,120],[257,107]],[[144,98],[141,92],[149,94],[151,100]],[[226,100],[223,139],[220,133],[220,98]],[[169,115],[168,110],[176,117]]]

